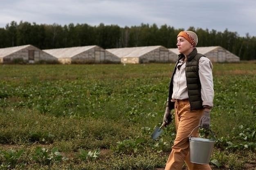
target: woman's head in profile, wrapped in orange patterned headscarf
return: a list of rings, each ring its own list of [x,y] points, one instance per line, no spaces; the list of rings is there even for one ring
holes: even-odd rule
[[[189,55],[198,44],[198,36],[193,31],[181,31],[177,35],[177,47],[180,53]]]

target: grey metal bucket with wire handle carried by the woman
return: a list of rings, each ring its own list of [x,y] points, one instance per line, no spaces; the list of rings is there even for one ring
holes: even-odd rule
[[[198,127],[200,126],[197,126],[195,128]],[[192,130],[192,132],[195,130],[195,128]],[[190,161],[192,163],[198,164],[209,164],[215,141],[211,139],[191,137],[192,132],[189,135]]]

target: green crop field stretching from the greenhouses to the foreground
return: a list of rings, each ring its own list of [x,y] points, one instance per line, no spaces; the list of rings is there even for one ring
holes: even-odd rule
[[[256,169],[256,64],[214,64],[213,169]],[[0,65],[0,169],[162,170],[174,64]],[[200,134],[206,134],[200,130]]]

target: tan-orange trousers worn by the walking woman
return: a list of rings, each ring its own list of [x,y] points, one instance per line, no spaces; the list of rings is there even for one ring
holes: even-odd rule
[[[175,101],[176,138],[165,170],[181,170],[184,161],[189,170],[211,170],[209,164],[191,163],[189,158],[189,134],[198,126],[203,110],[190,110],[189,100]],[[198,137],[194,130],[193,137]]]

